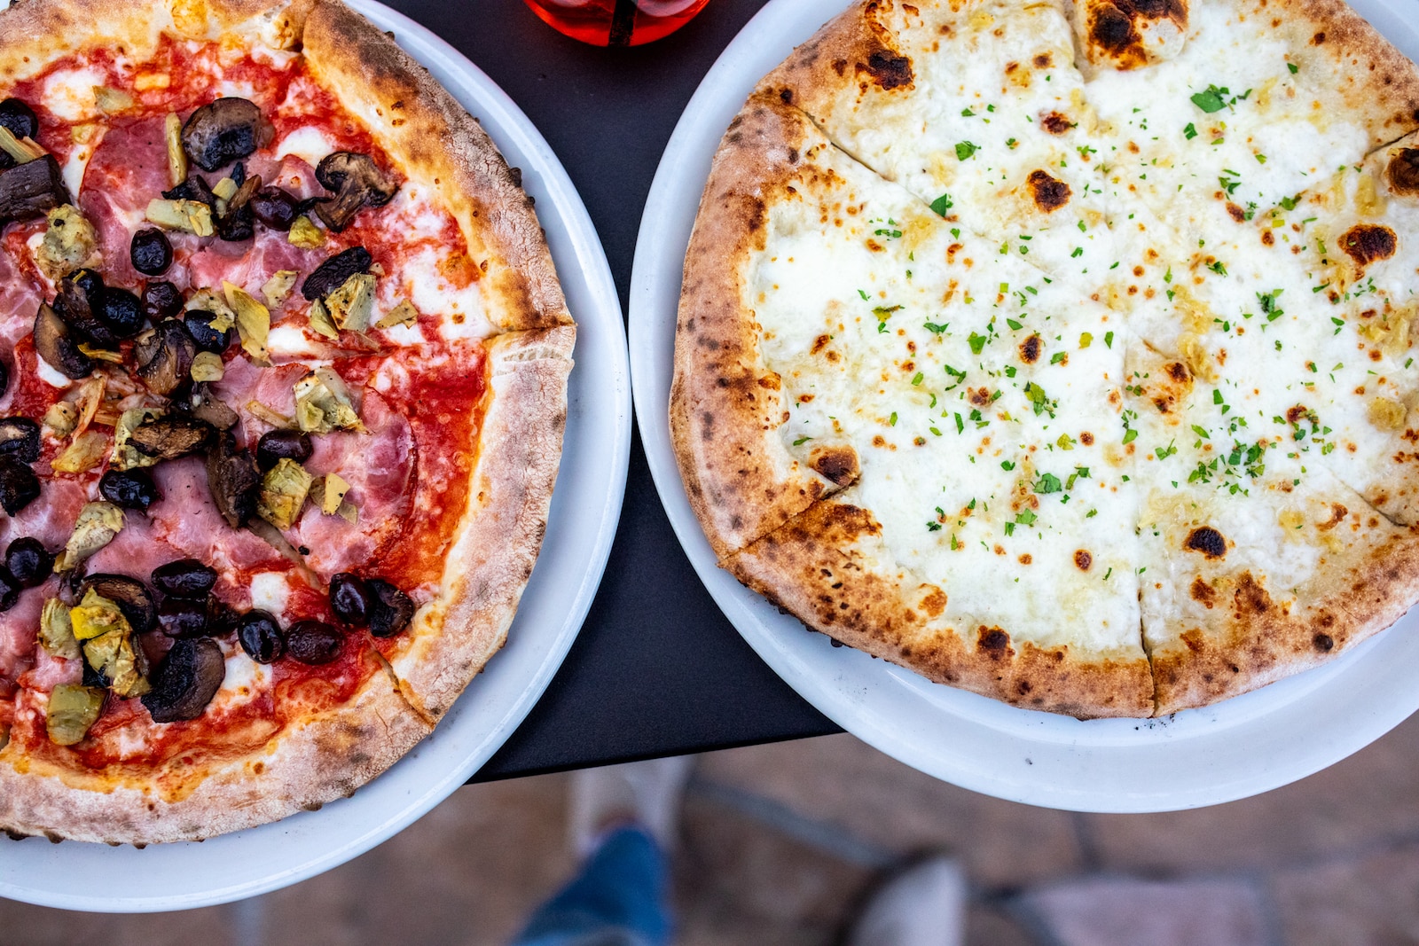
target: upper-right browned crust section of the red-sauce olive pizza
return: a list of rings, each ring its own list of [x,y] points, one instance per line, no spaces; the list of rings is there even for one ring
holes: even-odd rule
[[[522,190],[488,133],[429,71],[339,0],[305,21],[311,72],[370,128],[410,177],[437,187],[482,268],[488,311],[502,330],[570,325],[552,254]]]

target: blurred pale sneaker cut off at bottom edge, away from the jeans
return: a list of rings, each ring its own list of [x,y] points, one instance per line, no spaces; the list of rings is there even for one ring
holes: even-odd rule
[[[935,857],[891,879],[867,902],[849,946],[961,946],[966,926],[966,872]]]

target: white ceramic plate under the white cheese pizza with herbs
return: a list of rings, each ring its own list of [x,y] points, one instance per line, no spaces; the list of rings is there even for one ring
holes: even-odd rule
[[[1419,0],[1352,0],[1419,60]],[[847,4],[772,0],[724,51],[661,157],[630,292],[636,408],[650,469],[701,580],[759,655],[836,723],[938,779],[1012,801],[1080,811],[1162,811],[1267,791],[1357,752],[1419,709],[1419,611],[1327,667],[1154,720],[1016,709],[834,648],[715,566],[670,444],[681,267],[710,160],[745,96]]]

